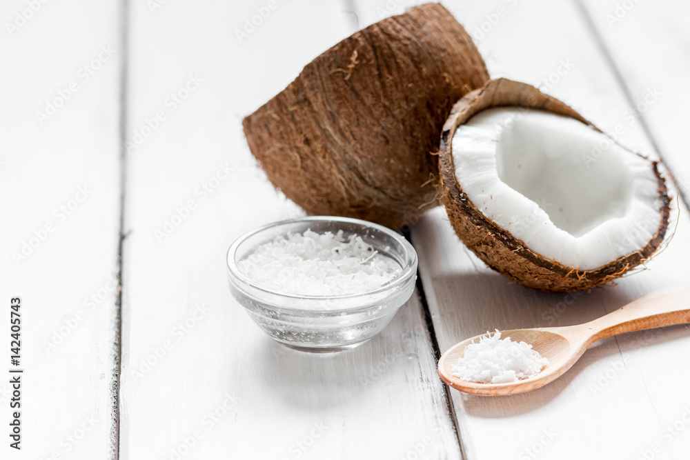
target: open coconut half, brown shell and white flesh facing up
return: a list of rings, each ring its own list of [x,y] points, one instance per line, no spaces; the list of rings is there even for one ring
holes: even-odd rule
[[[455,232],[523,286],[600,286],[649,259],[669,228],[658,162],[525,83],[492,80],[460,99],[439,161]]]

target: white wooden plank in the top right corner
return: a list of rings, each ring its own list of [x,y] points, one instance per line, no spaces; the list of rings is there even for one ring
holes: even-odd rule
[[[633,99],[630,112],[643,119],[660,153],[676,173],[678,186],[690,196],[687,155],[687,105],[690,87],[690,3],[583,1],[604,46]],[[644,33],[640,33],[644,31]]]

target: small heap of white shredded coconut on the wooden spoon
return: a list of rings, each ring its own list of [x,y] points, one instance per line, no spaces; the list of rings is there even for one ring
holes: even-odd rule
[[[501,340],[501,333],[482,337],[465,347],[464,356],[453,365],[453,375],[477,383],[506,383],[541,372],[549,360],[532,350],[529,343]]]

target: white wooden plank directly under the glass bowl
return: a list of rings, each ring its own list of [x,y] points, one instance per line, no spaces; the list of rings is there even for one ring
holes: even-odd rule
[[[130,139],[165,119],[128,159],[121,457],[460,458],[419,301],[324,357],[277,346],[228,292],[233,239],[300,214],[257,170],[242,117],[353,31],[340,3],[278,1],[240,43],[235,28],[264,6],[132,5]],[[203,82],[173,110],[188,75]]]

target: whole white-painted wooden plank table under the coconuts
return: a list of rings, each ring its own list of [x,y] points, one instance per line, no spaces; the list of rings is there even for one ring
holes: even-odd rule
[[[648,270],[583,294],[506,282],[442,209],[428,212],[411,228],[422,295],[332,357],[277,346],[230,297],[230,242],[301,214],[255,166],[242,117],[317,54],[413,3],[2,2],[0,458],[689,458],[688,326],[604,340],[514,397],[448,390],[435,370],[439,352],[485,330],[587,321],[688,282],[682,197],[676,237]],[[690,3],[443,3],[493,76],[540,86],[660,154],[690,197]],[[257,8],[266,17],[245,30]],[[21,451],[8,439],[11,297],[22,300]]]

